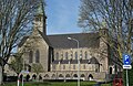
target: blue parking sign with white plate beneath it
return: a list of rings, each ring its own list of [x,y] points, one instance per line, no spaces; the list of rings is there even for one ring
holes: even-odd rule
[[[123,54],[123,68],[131,69],[131,56],[129,54]]]

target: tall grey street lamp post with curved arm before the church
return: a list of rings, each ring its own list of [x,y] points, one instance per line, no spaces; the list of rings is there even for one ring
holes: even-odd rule
[[[69,40],[73,40],[78,44],[78,50],[79,50],[79,40],[73,39],[73,37],[68,37]],[[78,56],[78,86],[80,86],[80,56]]]

